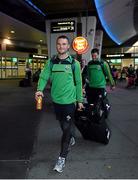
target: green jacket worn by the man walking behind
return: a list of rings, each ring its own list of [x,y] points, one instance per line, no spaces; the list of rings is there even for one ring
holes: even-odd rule
[[[110,71],[108,63],[107,62],[103,63],[103,68],[104,68],[104,72],[105,72],[105,74],[104,74],[103,69],[100,65],[100,61],[101,60],[99,60],[99,64],[98,63],[94,64],[93,60],[88,63],[89,87],[105,88],[106,87],[105,74],[106,74],[107,78],[109,79],[111,86],[114,86],[115,83],[114,83],[113,77],[111,75],[111,71]]]

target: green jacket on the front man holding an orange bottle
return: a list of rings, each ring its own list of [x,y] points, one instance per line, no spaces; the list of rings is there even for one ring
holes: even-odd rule
[[[66,58],[66,61],[72,61],[71,58]],[[51,79],[51,97],[53,102],[58,104],[71,104],[74,102],[82,102],[82,78],[80,63],[75,60],[74,78],[71,64],[53,64],[51,69],[51,60],[48,60],[44,69],[40,74],[38,81],[38,91],[43,91],[48,79]],[[75,84],[74,84],[75,79]]]

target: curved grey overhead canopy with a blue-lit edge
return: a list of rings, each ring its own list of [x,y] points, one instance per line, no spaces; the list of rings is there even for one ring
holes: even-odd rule
[[[118,45],[137,35],[135,0],[95,0],[95,5],[103,28]]]

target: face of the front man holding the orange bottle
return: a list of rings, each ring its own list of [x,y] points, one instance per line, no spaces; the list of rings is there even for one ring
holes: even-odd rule
[[[67,39],[60,38],[57,40],[56,44],[57,52],[59,54],[66,54],[70,48],[69,42]]]

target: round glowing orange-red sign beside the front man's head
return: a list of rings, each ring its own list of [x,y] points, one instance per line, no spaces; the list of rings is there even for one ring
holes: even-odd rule
[[[72,46],[73,46],[74,51],[76,51],[78,54],[84,54],[89,49],[89,44],[88,44],[87,39],[85,39],[82,36],[76,37],[73,40]]]

